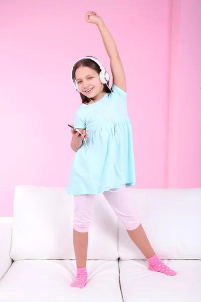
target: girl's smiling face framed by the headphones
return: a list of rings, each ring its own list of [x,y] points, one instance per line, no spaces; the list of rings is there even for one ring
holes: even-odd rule
[[[75,80],[79,91],[88,98],[93,98],[103,92],[104,85],[100,82],[99,74],[90,67],[77,68]]]

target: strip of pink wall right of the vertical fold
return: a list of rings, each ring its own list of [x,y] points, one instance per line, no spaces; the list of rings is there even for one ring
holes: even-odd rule
[[[201,2],[173,1],[168,187],[201,187]]]

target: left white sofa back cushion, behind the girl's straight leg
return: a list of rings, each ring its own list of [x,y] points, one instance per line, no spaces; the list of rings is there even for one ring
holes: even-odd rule
[[[74,197],[65,188],[16,186],[11,258],[75,259],[73,209]],[[97,194],[87,259],[118,257],[118,219],[103,194]]]

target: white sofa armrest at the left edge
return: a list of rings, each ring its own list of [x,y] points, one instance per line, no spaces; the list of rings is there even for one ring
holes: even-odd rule
[[[13,263],[10,257],[13,217],[0,217],[0,280]]]

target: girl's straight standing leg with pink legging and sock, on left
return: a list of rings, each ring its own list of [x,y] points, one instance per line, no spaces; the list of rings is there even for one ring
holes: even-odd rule
[[[72,287],[83,288],[87,281],[86,258],[88,229],[93,217],[95,195],[74,195],[73,245],[77,266],[76,280]]]

